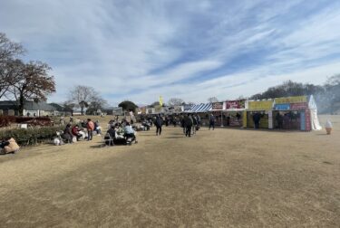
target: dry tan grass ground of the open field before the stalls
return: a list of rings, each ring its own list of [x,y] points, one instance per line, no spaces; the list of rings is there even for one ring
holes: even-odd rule
[[[340,116],[327,118],[330,136],[164,127],[131,147],[25,147],[0,157],[0,226],[339,227]]]

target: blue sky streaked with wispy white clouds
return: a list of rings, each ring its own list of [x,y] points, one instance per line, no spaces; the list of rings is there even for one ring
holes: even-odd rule
[[[340,73],[340,1],[0,0],[0,32],[53,70],[56,93],[111,105],[234,100]]]

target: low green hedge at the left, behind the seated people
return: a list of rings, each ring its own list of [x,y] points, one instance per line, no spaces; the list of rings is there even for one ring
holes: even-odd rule
[[[55,132],[63,130],[64,126],[57,127],[41,127],[41,128],[18,128],[0,131],[0,138],[11,137],[15,138],[15,141],[20,146],[36,145],[51,141],[56,137]]]

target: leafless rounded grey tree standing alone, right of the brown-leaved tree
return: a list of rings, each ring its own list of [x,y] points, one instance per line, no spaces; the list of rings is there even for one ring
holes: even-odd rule
[[[78,104],[81,108],[83,115],[83,109],[89,107],[92,98],[95,96],[95,90],[90,86],[78,85],[70,91],[70,101]]]

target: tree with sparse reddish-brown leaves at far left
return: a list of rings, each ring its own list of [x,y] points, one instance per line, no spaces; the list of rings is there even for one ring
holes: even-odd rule
[[[25,100],[47,100],[47,96],[55,92],[55,82],[44,62],[16,62],[16,81],[9,88],[9,93],[16,100],[19,114],[24,114]]]

